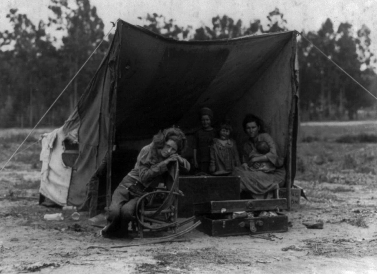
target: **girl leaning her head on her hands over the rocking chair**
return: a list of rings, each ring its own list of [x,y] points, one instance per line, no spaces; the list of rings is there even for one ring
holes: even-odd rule
[[[179,128],[167,128],[153,136],[152,143],[141,149],[135,167],[115,189],[106,214],[108,224],[95,236],[128,236],[128,225],[135,219],[139,197],[159,183],[172,184],[172,169],[176,161],[180,168],[190,170],[190,163],[179,155],[186,143],[185,134]]]

